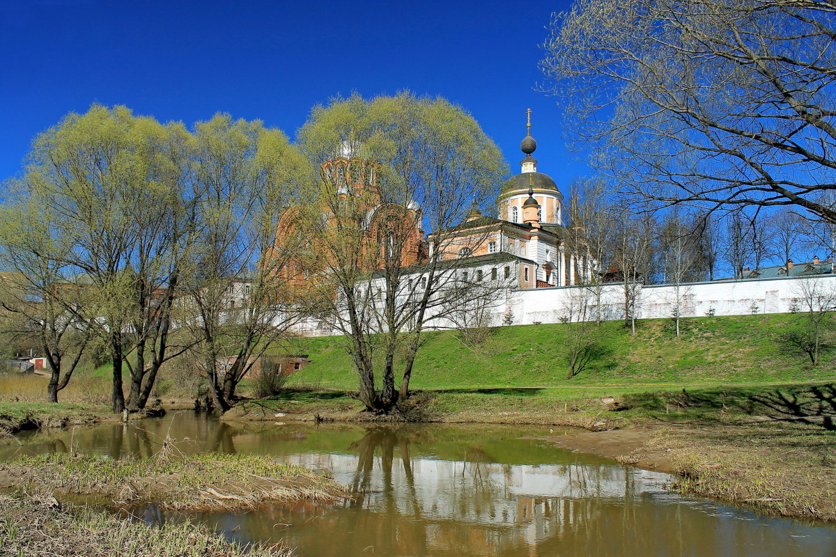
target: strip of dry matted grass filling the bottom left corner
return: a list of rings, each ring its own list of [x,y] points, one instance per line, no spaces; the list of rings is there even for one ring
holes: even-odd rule
[[[61,509],[55,499],[0,496],[0,556],[59,557],[289,557],[283,546],[244,548],[203,526],[145,524],[118,519],[89,507]],[[250,549],[250,550],[247,550]]]

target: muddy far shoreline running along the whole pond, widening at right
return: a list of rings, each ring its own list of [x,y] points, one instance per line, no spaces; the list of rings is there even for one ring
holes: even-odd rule
[[[375,418],[348,408],[338,411],[323,408],[321,412],[312,408],[298,410],[278,412],[267,405],[246,404],[233,408],[222,419],[231,424],[272,422],[278,427],[293,422],[405,421]],[[836,434],[833,432],[802,424],[648,423],[635,418],[625,420],[605,415],[602,418],[602,415],[466,412],[420,421],[576,428],[578,433],[540,438],[576,453],[596,454],[624,465],[670,473],[675,477],[671,488],[683,494],[745,504],[767,514],[836,520]],[[135,418],[140,416],[131,417]],[[102,413],[98,419],[85,419],[84,423],[118,421],[120,417]],[[44,421],[44,426],[51,424],[65,426],[68,422]]]

